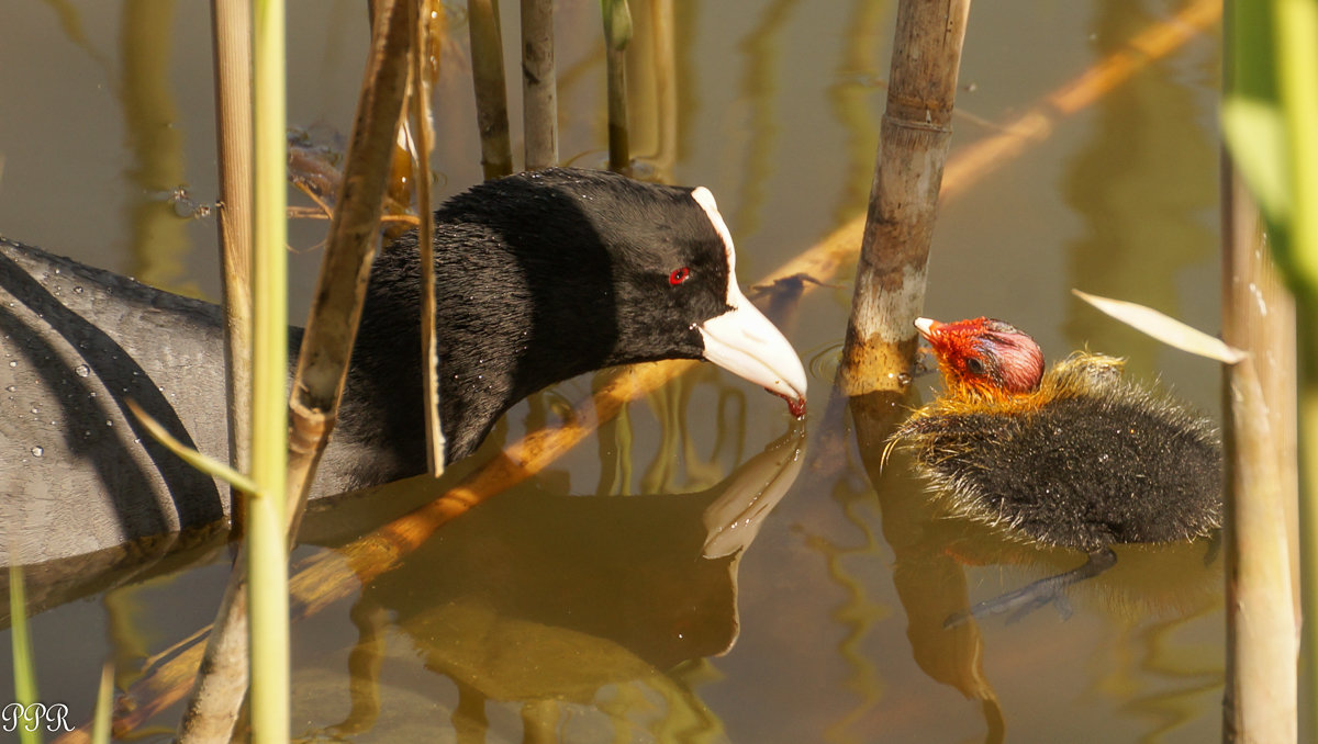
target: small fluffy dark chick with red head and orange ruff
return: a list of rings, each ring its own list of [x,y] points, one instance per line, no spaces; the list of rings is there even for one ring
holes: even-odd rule
[[[1123,381],[1122,359],[1077,352],[1044,374],[1039,345],[1000,320],[916,328],[946,391],[892,444],[958,514],[1090,553],[1220,527],[1213,425]]]

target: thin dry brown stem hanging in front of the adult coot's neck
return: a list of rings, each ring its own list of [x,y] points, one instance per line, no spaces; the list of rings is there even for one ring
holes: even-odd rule
[[[443,13],[438,3],[434,5]],[[420,358],[423,399],[426,402],[426,464],[430,474],[439,478],[444,473],[444,431],[439,421],[439,342],[435,340],[435,213],[430,207],[430,149],[435,128],[430,117],[431,70],[427,53],[431,47],[431,25],[427,16],[431,3],[416,3],[416,36],[411,51],[411,103],[416,142],[416,215],[420,217],[418,245],[420,248]]]

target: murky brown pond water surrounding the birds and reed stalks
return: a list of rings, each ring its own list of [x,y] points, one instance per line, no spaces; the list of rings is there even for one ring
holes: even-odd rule
[[[511,29],[515,7],[503,5]],[[596,4],[564,5],[560,149],[598,165]],[[677,5],[676,151],[656,170],[713,190],[750,284],[863,208],[895,3]],[[1178,8],[978,4],[953,157]],[[646,22],[639,4],[634,12]],[[465,22],[461,9],[452,14],[459,43],[438,92],[444,195],[480,178]],[[291,17],[290,122],[343,130],[361,78],[361,4],[295,3]],[[0,233],[217,296],[214,223],[178,219],[162,196],[186,184],[198,200],[215,198],[207,22],[203,3],[0,8]],[[944,204],[927,313],[1010,320],[1054,358],[1086,344],[1127,356],[1132,374],[1215,412],[1214,365],[1114,325],[1070,288],[1215,331],[1218,54],[1214,29],[1093,107],[1045,107],[1046,137]],[[650,132],[634,136],[642,154],[658,151]],[[299,308],[323,229],[303,223],[293,233]],[[401,569],[299,622],[294,732],[351,718],[352,741],[1217,737],[1220,569],[1205,565],[1203,545],[1123,552],[1116,569],[1070,593],[1065,620],[1044,608],[942,629],[967,598],[1081,557],[937,519],[900,460],[871,481],[858,446],[869,456],[874,444],[858,445],[824,415],[850,275],[822,279],[782,319],[812,367],[803,467],[775,475],[779,450],[753,460],[788,432],[788,416],[728,374],[702,369],[631,404],[625,421],[444,527]],[[917,387],[927,395],[933,385]],[[572,381],[519,406],[501,435],[513,441],[529,421],[552,421],[560,402],[589,388]],[[774,478],[792,485],[754,544],[709,554],[712,504]],[[335,558],[318,546],[297,557]],[[223,578],[221,565],[203,565],[40,614],[41,698],[84,719],[101,661],[119,658],[130,682],[142,654],[210,622]],[[370,643],[355,669],[374,669],[378,685],[369,674],[349,685],[358,636]],[[0,704],[12,699],[8,679]],[[171,727],[177,715],[153,723]]]

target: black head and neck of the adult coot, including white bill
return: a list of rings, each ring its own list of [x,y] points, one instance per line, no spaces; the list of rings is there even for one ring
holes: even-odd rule
[[[471,454],[522,398],[623,363],[706,359],[801,412],[800,358],[742,294],[731,236],[706,188],[552,169],[476,186],[435,221],[449,460]],[[344,421],[423,464],[416,254],[411,233],[377,259]]]

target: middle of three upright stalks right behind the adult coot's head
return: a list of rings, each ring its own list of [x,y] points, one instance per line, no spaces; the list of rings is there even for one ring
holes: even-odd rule
[[[554,0],[522,0],[522,129],[526,170],[559,163],[559,83]]]

